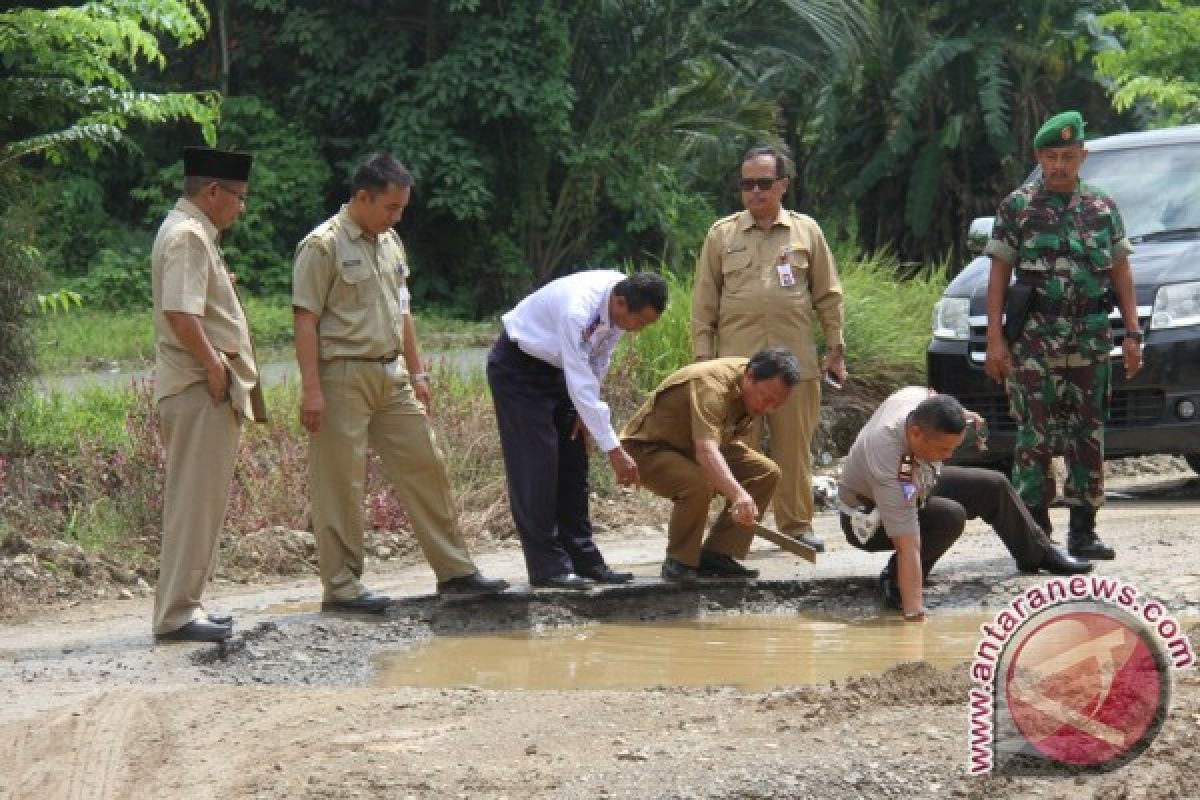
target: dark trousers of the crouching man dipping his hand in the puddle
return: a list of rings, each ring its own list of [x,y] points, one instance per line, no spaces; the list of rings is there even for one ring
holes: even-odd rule
[[[992,527],[1018,567],[1033,569],[1045,559],[1050,540],[1002,473],[976,467],[943,467],[932,497],[917,512],[923,577],[929,577],[937,559],[962,535],[967,519],[977,517]],[[866,542],[858,541],[845,513],[841,515],[841,529],[846,541],[862,551],[895,549],[882,525]],[[888,561],[892,575],[896,575],[895,560],[893,554]]]

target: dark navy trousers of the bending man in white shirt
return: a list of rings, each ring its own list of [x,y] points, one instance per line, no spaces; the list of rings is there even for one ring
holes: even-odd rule
[[[509,506],[530,581],[602,567],[588,515],[588,455],[563,371],[506,333],[487,354]]]

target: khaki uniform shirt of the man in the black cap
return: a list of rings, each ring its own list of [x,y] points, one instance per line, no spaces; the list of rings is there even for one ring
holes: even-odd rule
[[[217,243],[220,231],[187,198],[167,213],[151,251],[151,288],[155,329],[155,401],[170,397],[192,384],[206,383],[204,365],[192,355],[163,312],[199,317],[212,347],[229,365],[229,401],[253,420],[250,392],[258,384],[258,366],[250,325],[226,269]]]

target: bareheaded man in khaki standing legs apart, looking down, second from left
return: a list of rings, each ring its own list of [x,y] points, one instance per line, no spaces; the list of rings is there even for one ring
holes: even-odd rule
[[[300,242],[292,288],[300,420],[311,435],[308,491],[324,588],[322,609],[383,613],[391,599],[362,584],[362,488],[366,449],[379,455],[438,594],[503,591],[482,577],[455,518],[450,480],[425,409],[409,313],[408,265],[400,222],[413,179],[386,154],[354,175],[350,201]]]

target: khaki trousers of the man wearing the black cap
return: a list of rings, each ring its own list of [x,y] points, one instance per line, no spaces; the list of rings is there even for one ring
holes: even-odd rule
[[[169,633],[205,618],[200,596],[217,565],[241,417],[228,401],[214,404],[206,384],[163,397],[158,417],[167,475],[154,632]]]

